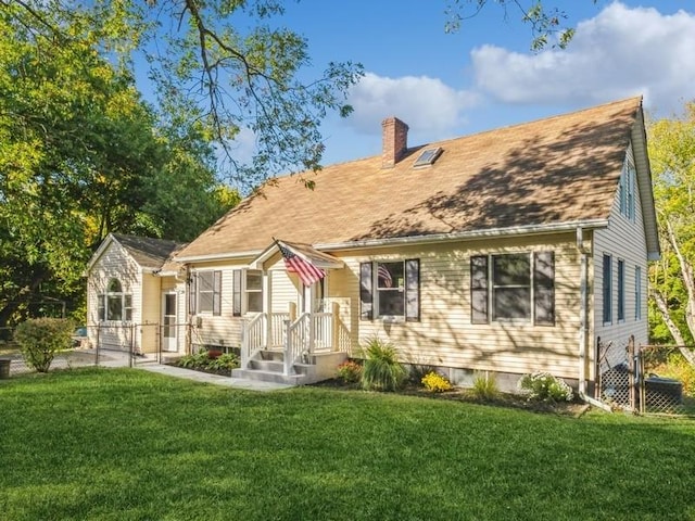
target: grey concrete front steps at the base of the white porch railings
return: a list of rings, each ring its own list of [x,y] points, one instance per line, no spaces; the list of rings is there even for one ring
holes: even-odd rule
[[[336,368],[346,358],[345,353],[316,353],[309,355],[306,364],[294,364],[291,374],[283,374],[285,353],[281,351],[261,351],[249,360],[248,369],[233,369],[231,377],[290,385],[306,385],[333,378]]]

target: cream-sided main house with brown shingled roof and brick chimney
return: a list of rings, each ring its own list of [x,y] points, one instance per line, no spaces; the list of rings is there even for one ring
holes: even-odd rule
[[[304,174],[313,190],[276,179],[177,251],[189,343],[302,381],[380,338],[459,384],[545,370],[585,392],[598,338],[647,342],[641,98],[419,147],[407,132],[386,119],[380,156]],[[302,283],[288,252],[325,277]]]

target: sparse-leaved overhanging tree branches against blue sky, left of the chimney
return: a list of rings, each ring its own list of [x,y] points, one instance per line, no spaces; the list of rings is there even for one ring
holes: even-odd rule
[[[131,73],[149,64],[160,109],[197,122],[216,140],[226,173],[244,188],[288,171],[317,170],[319,126],[328,111],[345,116],[349,88],[362,74],[329,63],[305,77],[307,41],[282,27],[281,0],[0,0],[5,10],[84,16],[89,35]],[[64,26],[31,23],[35,30]],[[174,112],[174,115],[169,114]],[[255,153],[241,161],[238,138],[252,134]]]

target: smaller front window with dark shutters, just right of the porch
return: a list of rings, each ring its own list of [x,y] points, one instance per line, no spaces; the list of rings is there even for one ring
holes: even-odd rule
[[[377,260],[359,265],[361,318],[420,319],[420,262]]]

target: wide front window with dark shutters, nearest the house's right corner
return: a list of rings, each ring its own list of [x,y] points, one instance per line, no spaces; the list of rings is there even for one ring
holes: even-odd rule
[[[555,325],[553,252],[470,258],[471,322],[526,320]]]

